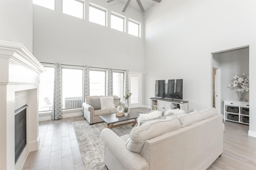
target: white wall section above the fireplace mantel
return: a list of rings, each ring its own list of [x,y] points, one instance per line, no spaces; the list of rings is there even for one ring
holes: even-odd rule
[[[22,43],[32,53],[32,0],[0,0],[0,40]]]

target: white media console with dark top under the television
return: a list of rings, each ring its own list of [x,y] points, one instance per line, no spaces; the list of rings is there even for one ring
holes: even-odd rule
[[[168,109],[180,108],[184,111],[188,111],[188,101],[184,100],[173,100],[166,98],[150,98],[151,100],[151,110],[163,111],[164,113]]]

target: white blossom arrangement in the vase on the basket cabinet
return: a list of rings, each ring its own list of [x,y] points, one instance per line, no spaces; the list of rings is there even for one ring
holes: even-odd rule
[[[248,92],[249,91],[249,76],[245,76],[245,74],[242,74],[242,77],[239,77],[237,75],[238,73],[236,73],[236,75],[233,77],[235,80],[233,81],[232,85],[228,85],[231,87],[237,87],[236,91],[238,92]]]

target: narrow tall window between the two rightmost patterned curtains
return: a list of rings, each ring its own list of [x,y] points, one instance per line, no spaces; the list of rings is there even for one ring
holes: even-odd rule
[[[113,72],[113,95],[123,99],[124,96],[124,73]]]

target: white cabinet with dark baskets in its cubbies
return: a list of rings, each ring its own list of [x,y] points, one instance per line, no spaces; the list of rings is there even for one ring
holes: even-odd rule
[[[224,100],[224,121],[249,125],[249,102]]]

